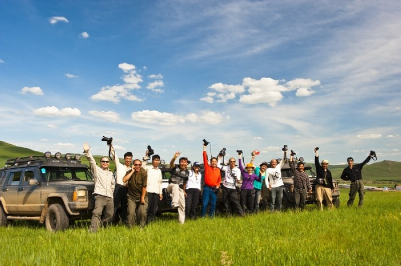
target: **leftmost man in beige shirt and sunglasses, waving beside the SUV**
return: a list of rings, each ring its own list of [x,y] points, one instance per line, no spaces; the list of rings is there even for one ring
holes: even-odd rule
[[[100,167],[96,165],[96,161],[89,152],[90,146],[87,142],[83,145],[84,154],[88,159],[90,169],[95,181],[93,196],[95,198],[95,208],[92,211],[91,225],[89,232],[95,233],[100,222],[105,224],[111,223],[111,218],[114,213],[113,193],[114,193],[114,175],[109,169],[109,158],[102,157],[100,159]],[[101,219],[104,210],[103,220]]]

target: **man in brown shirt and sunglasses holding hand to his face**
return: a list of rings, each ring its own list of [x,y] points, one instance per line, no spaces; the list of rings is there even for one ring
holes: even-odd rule
[[[139,224],[140,228],[146,225],[147,211],[147,172],[142,167],[142,162],[135,159],[132,169],[123,177],[123,182],[128,182],[128,225],[133,227]]]

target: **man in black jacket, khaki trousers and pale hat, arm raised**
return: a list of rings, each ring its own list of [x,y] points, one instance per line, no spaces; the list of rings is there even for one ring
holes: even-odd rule
[[[315,196],[317,207],[323,210],[323,197],[326,200],[327,208],[333,208],[333,198],[331,193],[334,192],[333,178],[331,176],[330,170],[327,168],[329,162],[327,160],[322,160],[319,164],[319,154],[318,150],[315,148],[315,167],[316,167],[316,186],[315,186]]]

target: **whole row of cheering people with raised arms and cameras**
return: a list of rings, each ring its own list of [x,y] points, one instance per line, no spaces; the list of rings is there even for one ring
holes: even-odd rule
[[[124,154],[124,164],[120,163],[113,146],[110,144],[110,158],[116,163],[115,178],[109,169],[109,158],[102,157],[100,167],[90,154],[90,146],[84,143],[84,154],[88,158],[90,169],[94,176],[95,207],[92,211],[92,219],[89,231],[96,232],[99,224],[111,223],[116,211],[120,209],[121,221],[128,226],[139,225],[143,228],[147,223],[154,220],[158,202],[163,199],[162,173],[159,169],[160,156],[151,157],[151,165],[148,165],[148,150],[145,156],[132,161],[132,153]],[[315,148],[316,186],[315,197],[319,209],[323,209],[323,199],[328,208],[332,208],[331,193],[334,191],[332,175],[328,169],[328,161],[319,162],[318,149]],[[200,163],[194,162],[191,169],[188,169],[188,159],[180,157],[178,164],[175,160],[180,152],[175,152],[169,166],[171,178],[167,186],[167,192],[171,193],[171,207],[177,209],[178,221],[183,224],[186,218],[196,217],[197,206],[200,198],[200,190],[203,184],[202,194],[202,217],[205,217],[208,210],[209,216],[214,216],[216,210],[217,195],[222,188],[223,204],[229,214],[244,216],[245,213],[259,211],[262,184],[265,182],[270,191],[270,211],[280,211],[284,183],[281,176],[281,168],[284,165],[286,151],[280,160],[272,159],[270,164],[262,162],[259,166],[253,164],[257,152],[252,153],[252,159],[245,164],[242,151],[238,153],[238,165],[236,159],[230,158],[228,165],[222,162],[223,156],[212,157],[208,160],[206,145],[204,144],[203,163],[204,172],[200,173]],[[361,169],[370,158],[371,154],[361,164],[353,165],[353,159],[348,158],[348,167],[341,175],[341,179],[350,180],[351,188],[348,205],[352,205],[356,193],[359,193],[359,204],[363,204],[363,182]],[[132,162],[132,165],[131,165]],[[244,163],[243,163],[244,162]],[[245,167],[244,167],[245,166]],[[307,194],[312,192],[312,186],[308,174],[304,171],[304,163],[293,160],[290,155],[290,167],[294,180],[295,208],[303,209]],[[224,172],[222,180],[221,171]],[[242,178],[241,178],[242,176]],[[239,189],[239,184],[241,188]],[[220,187],[222,185],[222,187]]]

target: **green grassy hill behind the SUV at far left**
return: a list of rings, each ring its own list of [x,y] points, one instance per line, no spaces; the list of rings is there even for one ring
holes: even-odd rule
[[[19,158],[19,157],[28,157],[28,156],[43,156],[45,151],[34,151],[31,149],[15,146],[13,144],[0,141],[0,168],[3,168],[5,165],[6,160],[12,159],[12,158]],[[64,156],[64,154],[63,154]],[[100,158],[103,157],[101,155],[93,155],[95,158],[96,162],[100,162]],[[81,161],[87,165],[89,165],[88,160],[86,157],[81,154]],[[121,161],[121,160],[120,160]],[[121,161],[121,163],[124,163]],[[115,163],[114,161],[111,161],[110,163],[110,169],[114,170],[115,168]]]

